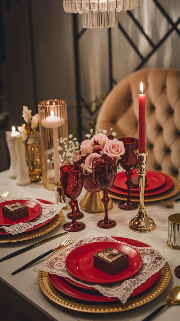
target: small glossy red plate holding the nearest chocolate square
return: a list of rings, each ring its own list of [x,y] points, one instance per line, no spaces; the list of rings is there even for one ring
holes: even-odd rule
[[[136,274],[142,265],[141,255],[132,247],[113,243],[113,248],[126,253],[129,257],[129,266],[109,275],[93,266],[93,254],[112,247],[112,242],[93,242],[76,247],[69,253],[65,260],[65,266],[69,273],[76,278],[90,283],[114,283],[129,279]]]

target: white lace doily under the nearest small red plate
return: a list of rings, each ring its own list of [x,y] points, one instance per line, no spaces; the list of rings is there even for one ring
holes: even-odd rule
[[[158,250],[154,249],[153,247],[131,246],[140,253],[143,260],[140,271],[134,277],[123,282],[104,285],[90,284],[73,277],[65,267],[66,256],[76,247],[79,247],[86,243],[98,241],[117,242],[115,239],[112,239],[106,234],[102,234],[97,231],[90,231],[89,233],[83,235],[75,243],[73,243],[73,245],[64,248],[51,258],[47,259],[44,263],[42,263],[38,270],[43,270],[62,277],[68,277],[80,284],[95,288],[106,297],[116,297],[124,304],[126,303],[131,293],[133,293],[134,289],[136,289],[142,283],[146,282],[146,280],[149,279],[153,274],[162,269],[162,267],[166,263],[166,259],[159,253]],[[123,242],[119,243],[126,244]]]

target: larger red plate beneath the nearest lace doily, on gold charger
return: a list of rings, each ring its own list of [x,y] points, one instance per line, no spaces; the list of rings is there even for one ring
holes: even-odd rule
[[[126,239],[126,238],[120,238],[120,237],[113,237],[113,238],[116,239],[117,241],[125,242],[132,246],[141,246],[141,247],[149,246],[132,239]],[[131,294],[130,298],[148,290],[159,279],[160,273],[161,273],[161,270],[155,273],[154,275],[152,275],[146,282],[144,282],[138,288],[136,288]],[[93,288],[88,288],[85,285],[81,285],[77,282],[74,282],[69,278],[61,278],[60,276],[57,276],[55,274],[50,274],[50,273],[48,273],[48,277],[51,283],[53,284],[53,286],[58,291],[61,291],[64,294],[69,295],[70,297],[73,297],[74,299],[80,299],[83,301],[85,300],[85,301],[91,301],[91,302],[110,302],[110,301],[118,300],[117,298],[104,297],[99,294],[99,291],[95,291]],[[67,280],[68,282],[65,282],[64,279],[65,281]],[[75,287],[69,283],[72,283],[73,285],[75,285]],[[83,288],[84,291],[81,288]],[[88,291],[85,291],[86,289]]]

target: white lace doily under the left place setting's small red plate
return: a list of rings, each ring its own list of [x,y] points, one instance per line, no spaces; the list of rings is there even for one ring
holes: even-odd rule
[[[64,204],[44,204],[39,202],[37,199],[33,198],[33,196],[27,195],[25,193],[15,194],[8,197],[2,197],[0,198],[0,203],[10,200],[17,200],[17,199],[23,199],[28,201],[34,201],[41,205],[42,212],[41,214],[33,221],[27,222],[27,223],[18,223],[10,226],[0,226],[0,229],[4,229],[7,233],[10,233],[12,235],[22,233],[35,225],[38,225],[40,223],[46,222],[47,220],[53,218],[57,213],[61,211],[61,209],[66,205]]]

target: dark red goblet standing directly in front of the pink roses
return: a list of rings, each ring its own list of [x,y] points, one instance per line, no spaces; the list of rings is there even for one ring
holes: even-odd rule
[[[116,159],[111,156],[103,154],[95,158],[92,162],[92,173],[98,187],[103,190],[103,198],[101,199],[104,204],[105,216],[104,220],[100,220],[97,225],[103,229],[110,229],[116,226],[116,222],[109,220],[107,214],[107,205],[110,198],[108,197],[108,190],[114,185],[116,178]]]

